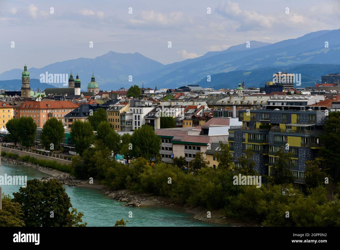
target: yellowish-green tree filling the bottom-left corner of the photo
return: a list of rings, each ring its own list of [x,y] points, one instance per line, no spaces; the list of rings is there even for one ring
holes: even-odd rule
[[[24,227],[23,212],[17,202],[12,202],[9,195],[2,195],[0,210],[0,227]]]

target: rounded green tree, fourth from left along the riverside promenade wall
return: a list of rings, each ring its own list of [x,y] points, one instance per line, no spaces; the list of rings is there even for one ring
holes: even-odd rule
[[[80,156],[88,149],[94,141],[94,133],[88,121],[75,120],[71,126],[71,140],[74,144],[75,152]]]

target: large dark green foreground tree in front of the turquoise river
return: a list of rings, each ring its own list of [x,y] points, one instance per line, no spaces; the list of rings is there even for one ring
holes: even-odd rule
[[[58,180],[28,180],[27,187],[13,193],[23,211],[26,227],[64,227],[73,222],[70,216],[70,198]]]

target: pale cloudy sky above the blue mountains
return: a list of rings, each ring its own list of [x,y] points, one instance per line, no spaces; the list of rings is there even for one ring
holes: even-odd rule
[[[108,51],[170,64],[339,29],[339,10],[340,0],[0,0],[0,73]]]

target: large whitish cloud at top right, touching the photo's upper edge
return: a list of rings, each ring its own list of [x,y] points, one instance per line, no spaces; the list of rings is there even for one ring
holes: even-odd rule
[[[220,2],[217,13],[228,19],[238,21],[237,30],[239,31],[269,29],[275,21],[273,17],[258,14],[256,11],[241,10],[238,3],[232,1]]]

